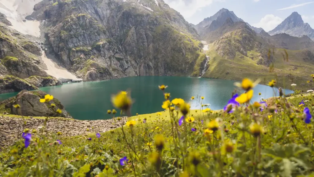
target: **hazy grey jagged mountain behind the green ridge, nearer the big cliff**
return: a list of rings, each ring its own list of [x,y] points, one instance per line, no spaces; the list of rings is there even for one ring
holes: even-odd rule
[[[244,22],[241,18],[238,18],[233,11],[229,11],[228,9],[220,9],[216,14],[211,17],[205,18],[199,24],[195,25],[195,29],[198,31],[200,36],[205,36],[211,31],[218,29],[219,27],[223,26],[227,19],[231,19],[233,22],[241,21]],[[251,26],[250,24],[246,23],[251,29],[259,33],[262,28],[256,28]]]

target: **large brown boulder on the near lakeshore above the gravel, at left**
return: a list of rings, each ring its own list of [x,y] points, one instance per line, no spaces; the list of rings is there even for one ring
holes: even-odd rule
[[[72,118],[71,115],[64,109],[59,100],[54,98],[49,103],[41,103],[39,100],[46,95],[43,91],[27,91],[22,90],[13,99],[8,99],[0,102],[6,104],[11,109],[11,114],[20,116],[42,116],[42,117],[66,117]],[[11,103],[11,104],[8,104]],[[51,103],[55,103],[56,107],[52,108]],[[19,104],[20,108],[15,108],[13,105]],[[11,107],[9,107],[11,106]],[[58,114],[57,109],[61,109],[62,113]]]

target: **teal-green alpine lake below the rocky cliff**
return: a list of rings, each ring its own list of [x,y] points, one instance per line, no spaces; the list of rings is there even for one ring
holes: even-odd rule
[[[114,109],[111,95],[119,91],[131,92],[133,105],[132,116],[163,111],[162,102],[165,101],[163,92],[158,85],[167,85],[166,93],[170,93],[170,100],[182,98],[191,104],[191,109],[201,109],[201,96],[205,97],[202,104],[210,104],[212,110],[223,109],[235,90],[235,81],[208,79],[196,77],[167,77],[167,76],[139,76],[125,77],[108,81],[64,83],[59,86],[42,87],[39,90],[57,98],[73,118],[79,120],[109,119],[112,115],[107,110]],[[258,93],[262,93],[260,96]],[[293,91],[284,89],[284,94]],[[18,92],[0,94],[0,101],[15,96]],[[254,88],[252,102],[267,99],[277,94],[278,89],[265,85]],[[194,100],[190,100],[195,96]],[[119,110],[116,116],[120,116]]]

